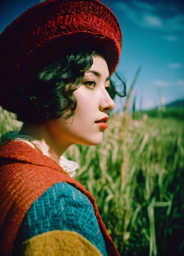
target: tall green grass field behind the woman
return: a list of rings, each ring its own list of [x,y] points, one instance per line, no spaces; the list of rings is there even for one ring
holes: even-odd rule
[[[21,126],[0,110],[0,136]],[[99,146],[72,145],[76,179],[96,198],[121,255],[184,254],[184,124],[112,115]]]

